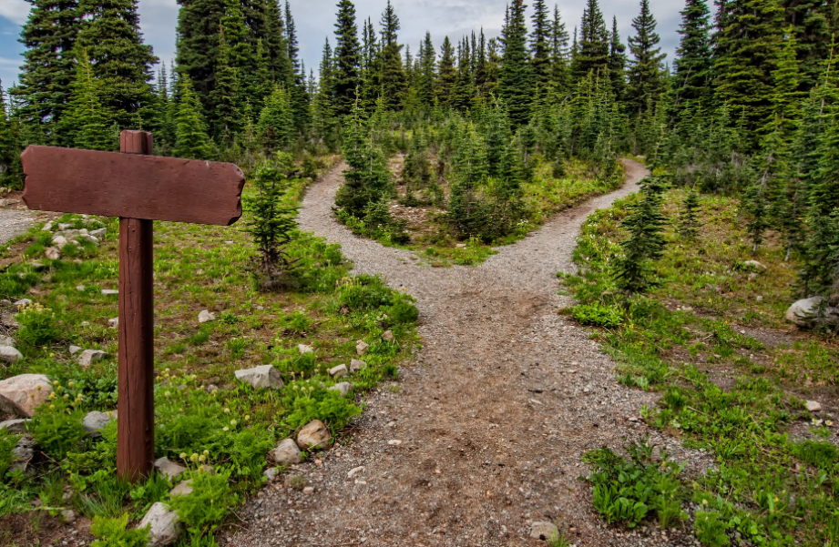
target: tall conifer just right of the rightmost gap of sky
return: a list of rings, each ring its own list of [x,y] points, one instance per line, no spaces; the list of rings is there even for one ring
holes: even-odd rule
[[[673,62],[676,86],[676,116],[691,109],[707,111],[713,91],[711,78],[711,11],[705,0],[687,0],[681,11],[681,36]]]

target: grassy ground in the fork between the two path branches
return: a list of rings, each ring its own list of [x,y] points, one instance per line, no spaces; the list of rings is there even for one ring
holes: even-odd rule
[[[391,212],[394,218],[404,221],[409,242],[394,238],[387,229],[371,229],[362,219],[340,214],[339,218],[357,235],[376,239],[389,247],[414,251],[422,265],[435,268],[448,268],[455,264],[476,266],[495,255],[496,248],[525,238],[559,211],[615,190],[624,180],[622,168],[617,176],[606,179],[599,176],[596,167],[578,159],[569,160],[561,169],[556,168],[555,162],[539,158],[533,159],[533,165],[532,180],[522,185],[523,214],[517,227],[506,237],[488,243],[479,238],[461,240],[457,237],[447,220],[445,208],[440,204],[441,198],[450,193],[445,180],[436,187],[436,204],[431,198],[425,201],[407,200],[408,188],[397,186]],[[400,169],[401,161],[394,161],[392,170],[397,180]]]

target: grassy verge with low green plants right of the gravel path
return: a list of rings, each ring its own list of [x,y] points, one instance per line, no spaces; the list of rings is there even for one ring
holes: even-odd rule
[[[709,546],[839,544],[836,426],[803,404],[835,400],[839,344],[783,321],[794,261],[772,240],[753,257],[739,202],[702,197],[699,238],[683,241],[671,226],[660,285],[627,299],[613,267],[626,238],[619,222],[636,198],[588,218],[575,252],[581,273],[565,279],[579,302],[569,312],[598,327],[592,336],[618,361],[622,383],[661,394],[640,409],[644,420],[711,451],[715,465],[685,479],[678,462],[652,462],[643,446],[629,447],[629,461],[591,452],[596,508],[630,527],[653,515],[665,527],[692,522]],[[670,218],[684,198],[667,194]],[[747,264],[754,259],[765,269]]]

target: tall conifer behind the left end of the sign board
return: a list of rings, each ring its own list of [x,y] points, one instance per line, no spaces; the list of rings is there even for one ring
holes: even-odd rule
[[[43,144],[67,144],[55,131],[70,99],[75,47],[81,18],[77,0],[31,0],[20,35],[26,46],[19,84],[12,89],[22,105],[18,116],[29,127],[43,127]]]

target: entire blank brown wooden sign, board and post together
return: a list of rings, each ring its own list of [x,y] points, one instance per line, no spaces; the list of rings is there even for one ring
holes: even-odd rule
[[[232,164],[152,156],[152,136],[123,131],[119,153],[27,147],[30,209],[119,217],[117,471],[138,481],[154,461],[154,220],[230,226],[245,177]]]

